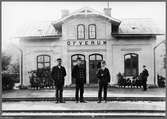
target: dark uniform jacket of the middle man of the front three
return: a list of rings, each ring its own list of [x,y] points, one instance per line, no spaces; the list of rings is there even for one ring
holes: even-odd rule
[[[80,71],[83,71],[83,76],[81,77],[80,75]],[[74,68],[72,69],[72,78],[75,79],[75,83],[76,84],[83,84],[86,82],[86,71],[85,68],[82,66],[74,66]]]

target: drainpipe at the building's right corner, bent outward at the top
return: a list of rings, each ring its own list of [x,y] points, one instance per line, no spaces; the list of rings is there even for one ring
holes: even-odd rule
[[[153,52],[154,52],[154,85],[156,85],[156,53],[155,53],[155,50],[156,48],[158,48],[162,43],[165,43],[165,40],[161,41],[159,44],[157,44],[154,49],[153,49]]]

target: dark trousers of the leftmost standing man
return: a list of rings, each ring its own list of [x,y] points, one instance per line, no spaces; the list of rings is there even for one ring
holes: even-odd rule
[[[63,86],[56,86],[56,101],[63,100]]]

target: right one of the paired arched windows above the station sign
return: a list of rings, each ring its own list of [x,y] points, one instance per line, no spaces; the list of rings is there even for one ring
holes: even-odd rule
[[[89,31],[89,39],[96,39],[96,25],[89,24],[88,31]]]

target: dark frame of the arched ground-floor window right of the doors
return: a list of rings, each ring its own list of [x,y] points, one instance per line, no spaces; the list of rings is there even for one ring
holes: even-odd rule
[[[137,56],[137,72],[136,72],[135,75],[139,75],[139,55],[138,55],[137,53],[127,53],[127,54],[124,55],[124,74],[125,74],[125,76],[134,76],[134,75],[132,74],[132,69],[133,69],[132,61],[133,61],[133,60],[130,60],[130,72],[131,72],[131,73],[130,73],[130,74],[126,74],[125,57],[126,57],[127,55],[130,55],[130,57],[132,57],[132,55],[136,55],[136,56]]]

